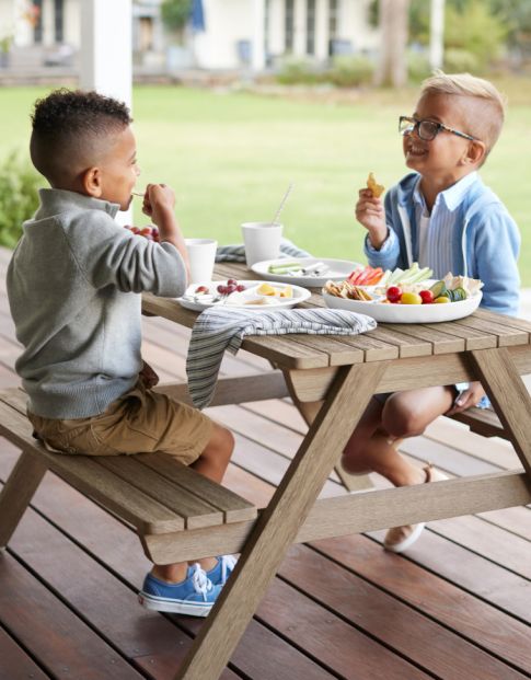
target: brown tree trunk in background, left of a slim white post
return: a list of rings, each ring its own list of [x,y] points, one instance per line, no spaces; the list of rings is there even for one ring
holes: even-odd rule
[[[378,85],[400,88],[407,82],[405,49],[407,45],[409,0],[380,0],[380,61]]]

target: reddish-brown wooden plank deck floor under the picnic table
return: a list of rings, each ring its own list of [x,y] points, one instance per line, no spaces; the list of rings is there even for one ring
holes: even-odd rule
[[[0,250],[0,387],[19,347]],[[186,335],[145,321],[145,358],[183,379]],[[259,370],[241,353],[227,373]],[[228,486],[263,505],[304,431],[289,401],[210,408],[236,451]],[[512,448],[441,418],[404,451],[449,475],[518,468]],[[0,439],[0,481],[18,451]],[[377,485],[381,481],[374,479]],[[342,492],[333,476],[324,494]],[[289,551],[223,673],[246,680],[509,680],[531,677],[531,509],[431,522],[406,556],[382,532]],[[0,552],[0,680],[173,677],[201,622],[136,600],[149,563],[124,523],[48,473]]]

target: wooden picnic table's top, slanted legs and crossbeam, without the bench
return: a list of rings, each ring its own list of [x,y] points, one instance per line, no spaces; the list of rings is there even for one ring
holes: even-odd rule
[[[244,265],[216,267],[215,278],[229,277],[253,278]],[[319,291],[304,306],[322,307]],[[175,300],[149,295],[143,309],[187,327],[197,316]],[[520,378],[531,372],[530,334],[527,321],[478,310],[448,323],[379,324],[359,336],[246,337],[242,348],[280,369],[310,427],[258,520],[249,522],[247,529],[245,522],[220,528],[222,544],[242,554],[177,678],[219,677],[292,542],[530,503],[531,399]],[[262,399],[272,397],[279,390],[277,376],[272,369],[270,382],[267,374],[247,382],[220,380],[218,392],[226,400],[220,403],[244,403],[244,388],[253,392],[253,385],[249,399],[259,399],[256,385],[263,390]],[[523,471],[316,500],[373,394],[470,380],[482,381]],[[215,541],[209,544],[212,554],[216,546]],[[185,548],[169,543],[163,555],[168,562],[186,558]]]

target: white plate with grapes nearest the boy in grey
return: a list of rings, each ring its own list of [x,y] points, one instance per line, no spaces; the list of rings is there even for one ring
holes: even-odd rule
[[[292,284],[275,284],[274,288],[284,289],[287,286],[291,287],[292,298],[277,298],[273,296],[259,296],[255,291],[261,284],[269,283],[269,281],[238,281],[239,284],[243,284],[245,286],[245,290],[239,293],[233,292],[230,296],[222,297],[221,300],[212,301],[210,298],[201,299],[198,296],[194,296],[198,286],[206,286],[211,293],[219,296],[218,286],[226,285],[227,281],[207,281],[204,284],[193,284],[188,286],[186,292],[182,298],[177,298],[177,302],[181,307],[185,307],[186,309],[191,309],[194,312],[203,312],[209,307],[224,307],[227,309],[247,309],[251,311],[257,312],[269,312],[277,309],[288,309],[290,307],[295,307],[299,304],[299,302],[303,302],[308,300],[311,296],[311,292],[305,288],[300,288],[299,286],[293,286]],[[232,299],[231,299],[232,298]],[[252,300],[267,300],[265,304],[250,304],[249,302]]]

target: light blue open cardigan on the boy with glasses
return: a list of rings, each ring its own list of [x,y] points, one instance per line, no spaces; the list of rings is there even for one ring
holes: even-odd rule
[[[381,250],[366,239],[366,255],[371,266],[383,269],[413,264],[417,251],[417,224],[413,192],[417,173],[403,177],[385,196],[389,237]],[[507,208],[480,177],[470,186],[455,221],[452,252],[454,276],[480,278],[482,307],[501,314],[516,315],[519,307],[520,276],[517,267],[520,233]]]

